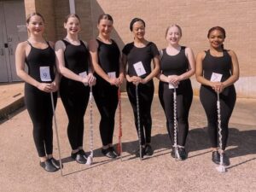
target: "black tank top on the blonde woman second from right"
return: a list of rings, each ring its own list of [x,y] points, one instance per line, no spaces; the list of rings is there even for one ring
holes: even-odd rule
[[[189,61],[185,55],[186,47],[181,47],[177,55],[168,55],[166,49],[163,49],[163,55],[160,61],[160,70],[166,76],[181,75],[189,69]]]

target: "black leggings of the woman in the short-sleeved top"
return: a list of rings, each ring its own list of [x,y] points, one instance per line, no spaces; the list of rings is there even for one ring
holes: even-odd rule
[[[132,83],[127,82],[126,89],[129,100],[131,102],[131,107],[133,109],[135,126],[137,128],[138,133],[136,86]],[[153,80],[150,80],[147,84],[138,84],[137,93],[139,101],[141,144],[144,145],[145,143],[151,142],[151,104],[154,96]]]

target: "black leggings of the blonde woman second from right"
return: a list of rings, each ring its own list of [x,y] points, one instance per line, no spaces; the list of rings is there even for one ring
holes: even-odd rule
[[[159,98],[161,106],[166,113],[166,127],[174,145],[174,116],[173,116],[173,89],[169,84],[159,84]],[[193,90],[190,80],[181,82],[177,88],[177,145],[185,146],[189,132],[189,108],[193,99]]]

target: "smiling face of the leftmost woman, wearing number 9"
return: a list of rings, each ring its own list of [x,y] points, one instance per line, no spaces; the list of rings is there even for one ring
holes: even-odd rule
[[[39,15],[33,15],[26,23],[28,31],[32,35],[42,35],[44,32],[44,20]]]

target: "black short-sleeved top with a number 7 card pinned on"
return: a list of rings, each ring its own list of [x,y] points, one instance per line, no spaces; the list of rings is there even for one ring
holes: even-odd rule
[[[143,48],[137,48],[136,46],[134,46],[134,42],[130,44],[125,44],[123,53],[127,56],[129,75],[137,76],[133,64],[139,61],[143,63],[146,74],[140,76],[141,78],[145,78],[148,76],[149,73],[151,73],[151,61],[155,55],[159,55],[159,51],[153,42],[149,42]]]

